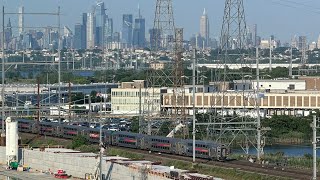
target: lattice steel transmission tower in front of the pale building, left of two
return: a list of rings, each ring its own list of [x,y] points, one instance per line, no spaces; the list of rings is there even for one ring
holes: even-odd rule
[[[184,89],[183,89],[183,29],[174,25],[172,0],[157,0],[154,26],[151,30],[150,69],[147,78],[147,98],[144,103],[144,114],[147,116],[147,133],[152,133],[151,123],[154,119],[170,121],[169,131],[179,122],[184,121]],[[161,60],[166,59],[166,60]],[[174,107],[170,110],[161,107],[161,89],[173,92],[171,101]],[[165,102],[164,102],[165,103]],[[183,122],[184,123],[184,122]],[[159,130],[160,127],[155,129]],[[154,132],[158,132],[158,131]]]

